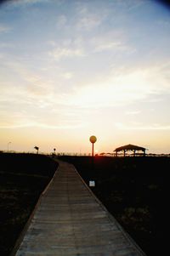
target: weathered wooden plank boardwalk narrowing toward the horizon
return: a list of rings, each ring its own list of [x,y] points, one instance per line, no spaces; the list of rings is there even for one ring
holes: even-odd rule
[[[73,165],[59,168],[32,213],[17,256],[144,256]]]

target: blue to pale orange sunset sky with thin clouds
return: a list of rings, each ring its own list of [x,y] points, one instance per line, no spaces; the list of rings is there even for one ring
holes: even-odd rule
[[[0,1],[0,150],[170,153],[170,7]]]

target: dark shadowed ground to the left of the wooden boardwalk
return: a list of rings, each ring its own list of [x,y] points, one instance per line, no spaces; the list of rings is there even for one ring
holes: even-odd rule
[[[58,164],[48,156],[0,153],[0,255],[9,255]]]

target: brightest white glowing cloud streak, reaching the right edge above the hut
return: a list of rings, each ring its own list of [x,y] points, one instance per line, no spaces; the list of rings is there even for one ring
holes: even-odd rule
[[[83,108],[129,105],[167,94],[169,89],[167,67],[115,68],[99,80],[79,83],[71,94],[65,94],[63,104]]]

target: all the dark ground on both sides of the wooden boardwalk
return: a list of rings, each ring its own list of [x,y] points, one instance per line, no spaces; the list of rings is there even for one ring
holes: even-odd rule
[[[170,158],[62,156],[148,256],[167,255]],[[14,247],[56,162],[34,154],[0,154],[0,255]],[[66,255],[65,255],[66,256]]]

